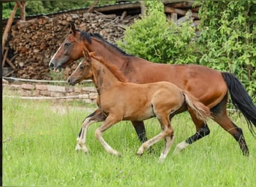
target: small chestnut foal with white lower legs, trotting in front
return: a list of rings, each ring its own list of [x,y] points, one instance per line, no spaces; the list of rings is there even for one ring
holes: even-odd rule
[[[174,141],[171,118],[177,111],[189,105],[198,119],[205,121],[207,117],[210,117],[210,108],[189,93],[181,91],[176,85],[170,82],[147,84],[127,82],[127,79],[113,64],[95,56],[94,52],[89,54],[85,50],[84,54],[85,59],[67,79],[67,82],[70,85],[75,85],[85,79],[93,80],[99,95],[100,111],[106,115],[102,125],[96,129],[95,135],[108,153],[120,155],[103,139],[103,132],[121,120],[147,120],[156,117],[162,132],[145,141],[139,147],[137,155],[141,156],[144,150],[165,138],[165,148],[159,157],[159,160],[162,161]],[[82,133],[78,139],[78,144],[85,153],[88,152],[88,148],[85,146],[85,135],[90,124],[84,121]]]

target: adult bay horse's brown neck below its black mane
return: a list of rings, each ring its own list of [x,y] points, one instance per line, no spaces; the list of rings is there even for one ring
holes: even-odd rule
[[[121,52],[118,52],[117,49],[112,46],[108,46],[108,44],[99,39],[91,37],[91,43],[86,43],[85,45],[90,52],[96,52],[96,55],[103,56],[106,61],[114,64],[119,70],[121,70],[121,67],[127,63],[127,57],[125,55],[121,54]]]

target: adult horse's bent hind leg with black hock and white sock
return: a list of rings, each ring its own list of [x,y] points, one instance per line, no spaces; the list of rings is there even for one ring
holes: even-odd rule
[[[182,141],[180,142],[180,144],[177,144],[174,153],[179,153],[181,150],[184,150],[190,144],[210,134],[210,129],[208,128],[206,122],[199,120],[192,110],[189,110],[189,114],[192,117],[193,122],[195,123],[196,132],[194,135],[187,138],[185,141]]]

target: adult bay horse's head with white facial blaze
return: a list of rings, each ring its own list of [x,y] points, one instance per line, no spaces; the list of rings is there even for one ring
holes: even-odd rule
[[[60,72],[61,67],[82,57],[83,46],[79,40],[80,31],[76,29],[73,23],[70,24],[70,28],[70,34],[61,43],[58,51],[55,52],[49,62],[49,67],[55,72]]]

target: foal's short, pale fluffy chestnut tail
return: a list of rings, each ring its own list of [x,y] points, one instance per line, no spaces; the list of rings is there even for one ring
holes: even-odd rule
[[[198,119],[205,121],[207,117],[210,117],[210,108],[189,93],[183,91],[183,95],[185,96],[186,104],[189,106],[189,109],[191,108],[192,111],[194,111]]]

